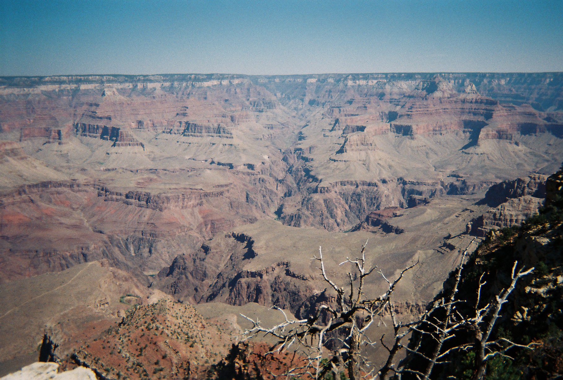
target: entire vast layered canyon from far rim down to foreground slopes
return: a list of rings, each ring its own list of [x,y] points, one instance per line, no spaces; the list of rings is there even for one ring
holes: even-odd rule
[[[36,315],[4,362],[46,326],[70,342],[78,317],[53,326],[72,308],[114,323],[129,293],[306,318],[334,297],[319,246],[339,286],[367,241],[386,276],[418,262],[396,292],[416,314],[459,254],[542,206],[563,161],[563,74],[1,77],[0,140],[3,293],[73,270],[105,284]]]

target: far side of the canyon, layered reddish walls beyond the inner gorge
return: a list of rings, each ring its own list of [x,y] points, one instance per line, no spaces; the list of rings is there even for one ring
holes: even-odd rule
[[[155,275],[240,225],[277,218],[346,231],[373,211],[484,192],[563,160],[558,73],[90,75],[0,86],[4,281],[101,258]],[[190,287],[211,281],[186,266]]]

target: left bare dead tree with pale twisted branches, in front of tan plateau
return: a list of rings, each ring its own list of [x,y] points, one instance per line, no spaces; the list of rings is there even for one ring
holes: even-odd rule
[[[397,284],[403,279],[405,272],[412,269],[418,262],[403,269],[395,280],[388,280],[383,272],[378,271],[379,274],[387,282],[387,290],[381,296],[369,299],[364,294],[365,278],[371,275],[377,266],[368,267],[365,259],[365,247],[361,247],[361,257],[351,260],[346,258],[345,263],[351,263],[355,267],[355,273],[348,272],[348,289],[338,287],[327,275],[324,266],[323,251],[319,247],[319,257],[314,256],[313,260],[319,261],[320,272],[323,280],[329,284],[336,292],[336,307],[330,305],[321,305],[315,312],[315,315],[308,319],[303,320],[289,320],[284,313],[285,321],[272,328],[263,328],[260,321],[254,321],[247,316],[242,315],[253,323],[253,327],[248,329],[247,336],[252,336],[256,333],[270,334],[279,339],[278,344],[274,347],[274,351],[287,350],[289,346],[294,343],[299,343],[301,346],[309,348],[310,352],[307,357],[310,361],[309,368],[307,368],[309,375],[312,378],[318,379],[324,377],[328,372],[342,372],[344,369],[347,377],[351,380],[360,378],[360,374],[365,378],[374,378],[380,375],[373,365],[361,355],[361,350],[365,345],[374,345],[376,342],[370,341],[366,336],[366,331],[372,326],[374,321],[382,320],[382,317],[389,311],[392,313],[391,296],[397,287]],[[279,309],[275,307],[275,309]],[[282,310],[280,310],[282,311]],[[283,311],[282,311],[283,312]],[[321,314],[325,312],[327,319],[325,323],[320,323]],[[392,314],[392,318],[395,319]],[[395,319],[396,321],[396,319]],[[408,328],[409,324],[395,323],[396,327]],[[343,338],[337,338],[342,342],[342,348],[338,350],[339,360],[332,360],[327,365],[321,365],[323,357],[323,346],[327,342],[325,336],[327,333],[335,332],[336,330],[344,329],[347,333]],[[402,337],[406,336],[406,333]],[[401,337],[401,339],[402,339]],[[307,338],[310,338],[307,341]],[[315,343],[316,342],[316,343]],[[400,339],[399,339],[400,342]],[[395,345],[391,350],[394,354],[398,351],[399,346]],[[312,352],[311,352],[312,350]],[[334,363],[336,361],[336,363]],[[337,363],[343,363],[345,368],[338,368]],[[290,375],[289,373],[287,375]]]

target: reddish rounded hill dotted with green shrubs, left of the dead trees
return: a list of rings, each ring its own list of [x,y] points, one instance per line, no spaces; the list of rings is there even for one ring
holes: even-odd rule
[[[83,342],[65,365],[84,365],[112,379],[200,379],[234,342],[231,325],[206,323],[193,306],[171,301],[136,306],[121,323]]]

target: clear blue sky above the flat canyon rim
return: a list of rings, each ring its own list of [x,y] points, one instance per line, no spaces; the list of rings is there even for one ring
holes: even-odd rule
[[[563,71],[563,1],[0,0],[0,75]]]

